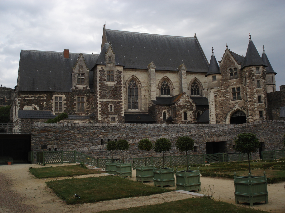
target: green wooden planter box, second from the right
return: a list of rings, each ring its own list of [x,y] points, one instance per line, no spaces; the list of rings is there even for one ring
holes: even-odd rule
[[[176,189],[184,191],[201,191],[200,171],[187,170],[177,171],[176,168]]]

